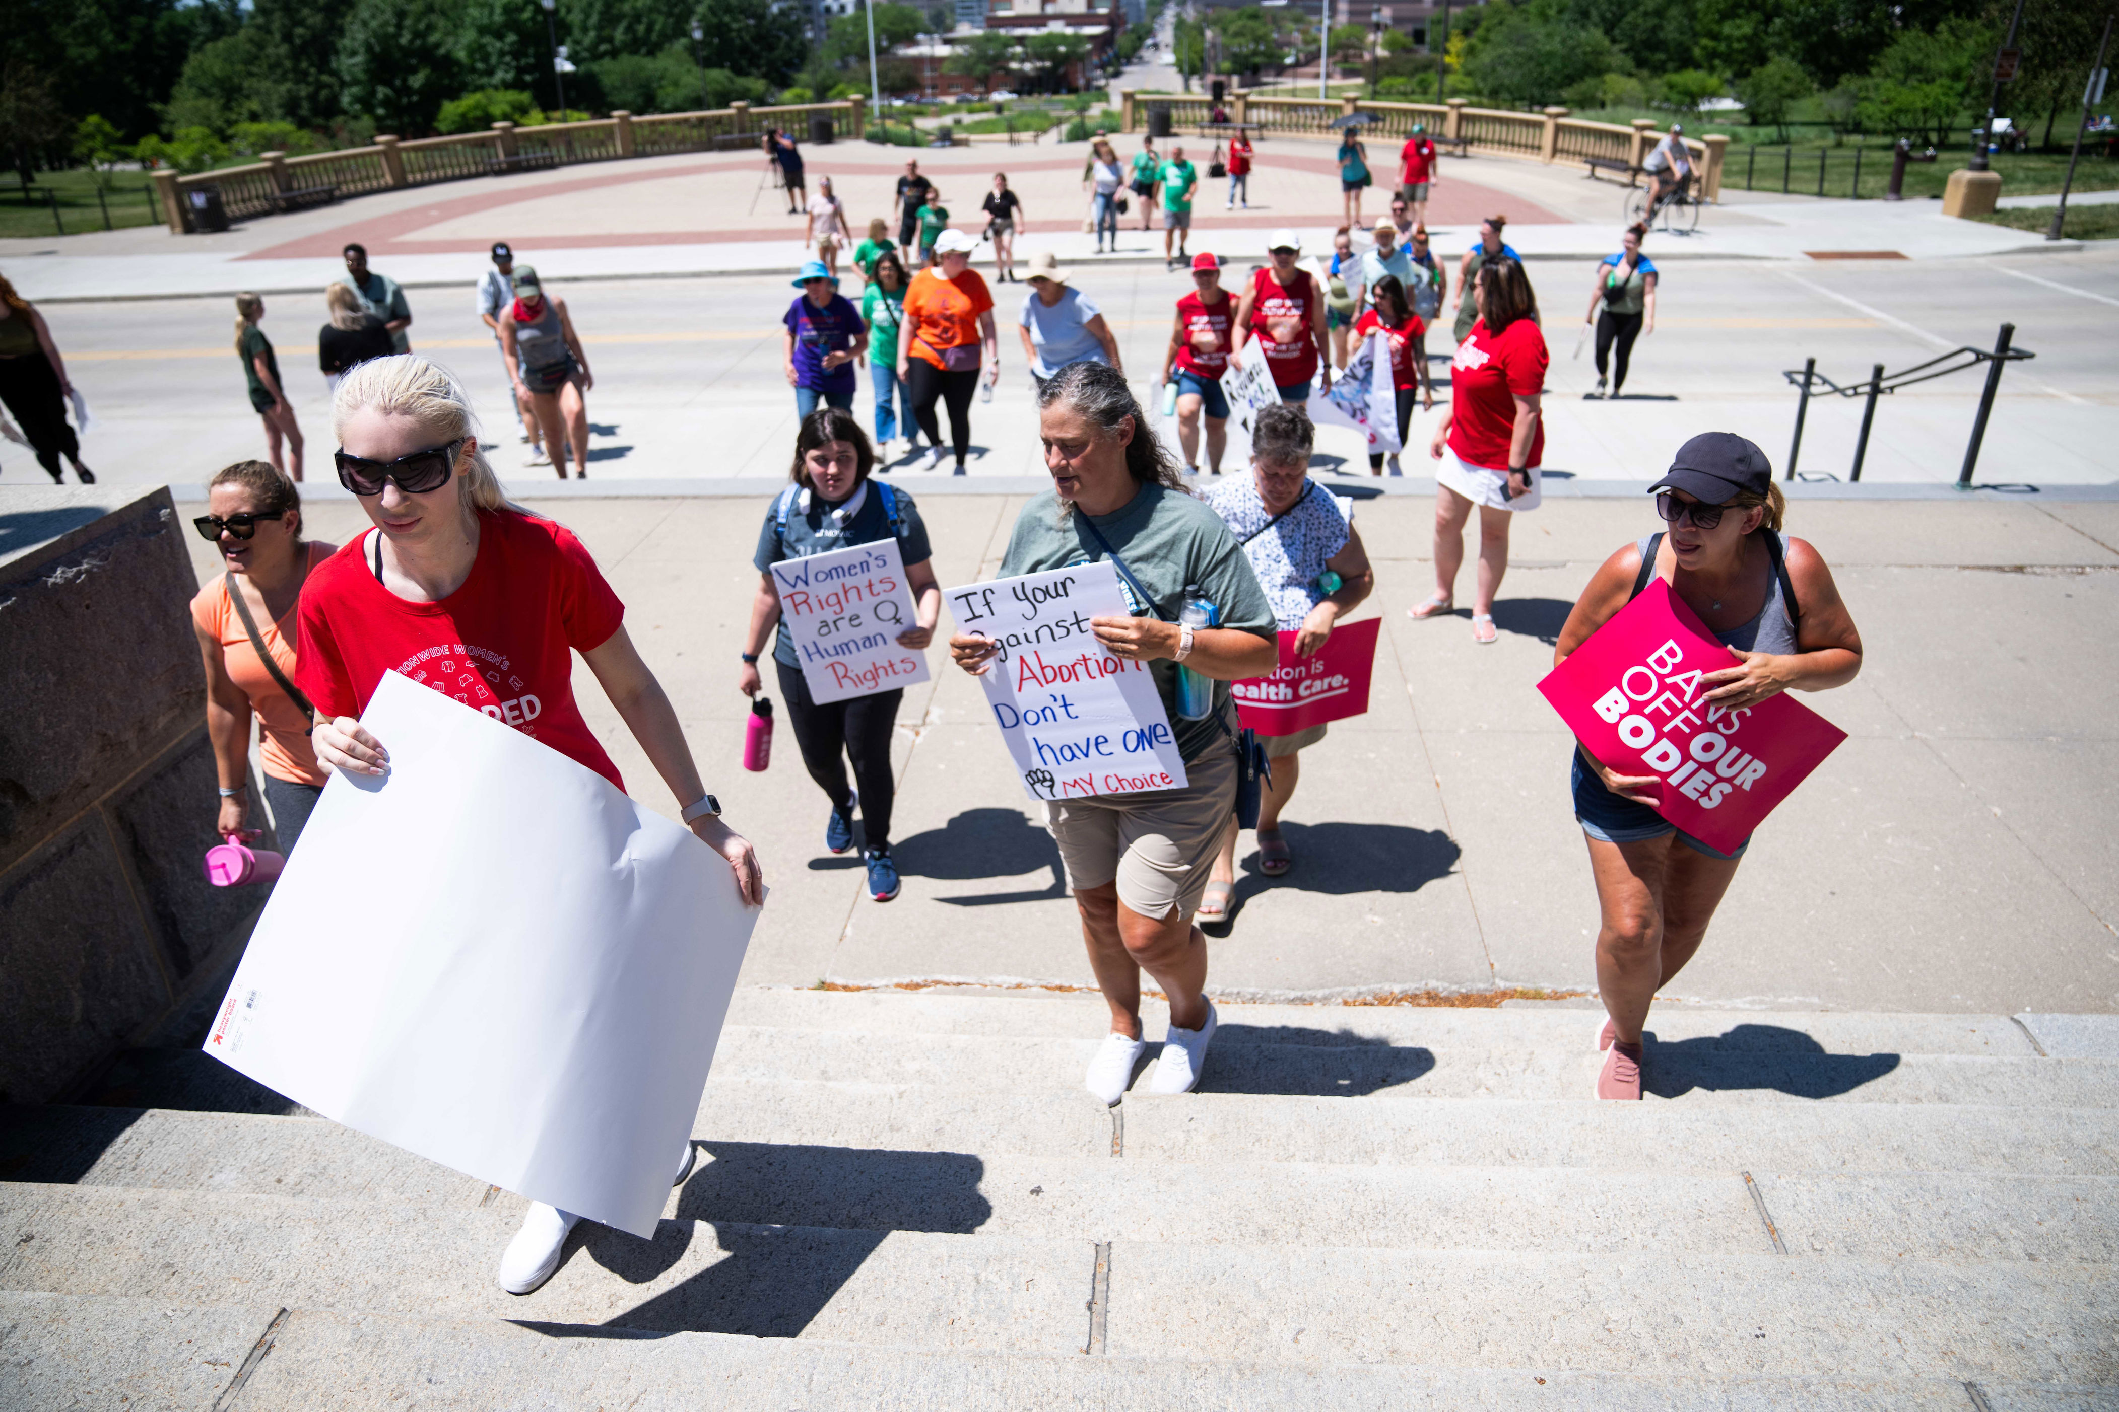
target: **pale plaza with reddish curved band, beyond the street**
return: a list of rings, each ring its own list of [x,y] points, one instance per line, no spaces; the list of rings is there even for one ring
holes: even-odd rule
[[[1229,212],[1225,184],[1204,178],[1208,144],[1187,152],[1201,169],[1193,250],[1261,254],[1263,237],[1293,227],[1305,248],[1326,250],[1343,222],[1331,146],[1312,138],[1261,144],[1252,210]],[[1165,144],[1170,146],[1170,144]],[[1138,138],[1119,140],[1121,155]],[[892,182],[907,159],[934,176],[962,229],[981,229],[979,201],[1002,169],[1021,195],[1028,229],[1017,258],[1053,250],[1091,260],[1093,237],[1081,171],[1087,144],[1023,144],[915,150],[837,144],[809,150],[809,182],[833,176],[856,233],[890,214]],[[763,182],[748,152],[612,161],[559,171],[449,182],[377,193],[292,216],[263,216],[222,235],[170,235],[159,227],[66,239],[0,241],[0,269],[38,301],[170,298],[180,294],[314,292],[341,273],[339,248],[360,241],[371,263],[411,288],[456,284],[464,258],[494,239],[536,260],[549,277],[731,275],[793,269],[803,258],[799,216]],[[1591,182],[1579,167],[1509,157],[1449,159],[1428,210],[1437,250],[1462,252],[1477,222],[1509,214],[1509,243],[1526,258],[1598,258],[1617,248],[1625,191]],[[1363,216],[1388,210],[1371,191]],[[892,220],[892,227],[896,222]],[[1121,220],[1119,263],[1159,260],[1161,229],[1140,231],[1138,207]],[[1672,258],[1810,260],[1846,254],[1966,258],[2002,252],[2077,250],[1941,216],[1935,201],[1818,201],[1725,191],[1695,235],[1657,235],[1651,252]],[[1112,256],[1106,256],[1110,260]]]

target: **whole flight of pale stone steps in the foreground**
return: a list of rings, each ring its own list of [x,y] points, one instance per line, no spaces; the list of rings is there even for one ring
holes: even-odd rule
[[[2119,1408],[2119,1020],[742,991],[653,1241],[189,1050],[0,1114],[0,1408]],[[1151,1016],[1148,1033],[1163,1020]],[[1151,1048],[1153,1054],[1153,1048]]]

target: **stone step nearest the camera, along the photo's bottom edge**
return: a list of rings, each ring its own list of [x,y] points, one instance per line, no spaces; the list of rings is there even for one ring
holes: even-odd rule
[[[244,1412],[339,1408],[699,1406],[807,1412],[1015,1412],[1079,1408],[1240,1408],[1288,1412],[1973,1412],[1962,1380],[1702,1378],[1377,1363],[1276,1365],[924,1353],[820,1338],[642,1336],[625,1329],[498,1319],[394,1317],[275,1306],[6,1293],[0,1406],[131,1406],[206,1412],[239,1374]],[[2089,1412],[2108,1389],[1981,1382],[1992,1412]],[[2102,1404],[2098,1401],[2102,1399]]]

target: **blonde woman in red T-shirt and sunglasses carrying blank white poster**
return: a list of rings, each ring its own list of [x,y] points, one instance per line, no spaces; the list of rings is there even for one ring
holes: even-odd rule
[[[759,857],[699,783],[676,711],[625,633],[625,605],[570,529],[506,502],[462,385],[411,354],[377,358],[341,379],[333,421],[339,483],[373,529],[303,584],[295,682],[316,705],[316,758],[348,775],[388,773],[388,745],[356,718],[384,673],[398,671],[623,790],[574,703],[572,654],[581,652],[684,807],[684,823],[729,859],[744,902],[759,904]],[[396,847],[400,857],[384,868],[417,855],[417,840]],[[678,1181],[691,1162],[687,1143]],[[532,1202],[500,1257],[502,1289],[530,1293],[551,1279],[578,1219]]]

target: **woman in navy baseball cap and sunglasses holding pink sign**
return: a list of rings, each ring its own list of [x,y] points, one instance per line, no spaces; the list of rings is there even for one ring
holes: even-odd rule
[[[1668,529],[1623,546],[1596,572],[1553,665],[1661,578],[1740,667],[1699,680],[1706,701],[1755,707],[1788,688],[1822,692],[1860,671],[1860,633],[1824,557],[1780,531],[1786,502],[1765,451],[1731,432],[1678,449],[1649,487]],[[1596,978],[1608,1018],[1600,1099],[1640,1097],[1640,1031],[1655,993],[1693,959],[1750,847],[1721,853],[1655,813],[1655,775],[1617,775],[1574,749],[1574,817],[1589,838],[1602,927]]]

